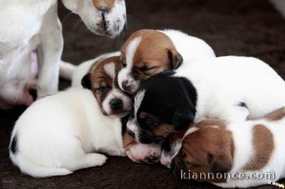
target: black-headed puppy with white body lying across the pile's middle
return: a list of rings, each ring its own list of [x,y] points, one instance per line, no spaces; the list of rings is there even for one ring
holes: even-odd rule
[[[232,124],[284,105],[285,82],[266,63],[237,56],[208,58],[146,80],[135,94],[127,127],[141,143],[160,143],[202,119]]]

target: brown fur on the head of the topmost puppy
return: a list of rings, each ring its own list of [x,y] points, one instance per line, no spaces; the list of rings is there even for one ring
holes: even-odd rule
[[[120,49],[123,59],[129,43],[137,37],[141,41],[133,58],[132,73],[135,80],[147,80],[159,72],[172,70],[169,50],[174,56],[179,53],[170,38],[160,31],[140,30],[133,33]]]

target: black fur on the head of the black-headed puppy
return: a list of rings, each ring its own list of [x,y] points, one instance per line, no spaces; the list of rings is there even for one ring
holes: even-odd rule
[[[140,127],[141,139],[143,133],[155,137],[150,126],[145,126],[138,116],[140,112],[152,114],[160,120],[160,124],[170,124],[179,131],[192,124],[196,114],[197,91],[185,77],[172,77],[175,72],[161,72],[140,85],[138,92],[145,91],[137,112],[137,122]]]

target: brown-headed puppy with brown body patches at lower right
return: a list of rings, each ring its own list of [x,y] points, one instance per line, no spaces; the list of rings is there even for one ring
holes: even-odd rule
[[[194,178],[223,188],[254,187],[285,178],[284,126],[284,108],[238,124],[199,121],[185,134],[171,168],[181,179]]]

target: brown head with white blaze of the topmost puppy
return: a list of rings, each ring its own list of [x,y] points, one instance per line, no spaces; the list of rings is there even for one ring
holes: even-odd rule
[[[142,81],[164,70],[175,70],[183,61],[170,38],[155,30],[136,31],[120,51],[123,69],[118,82],[122,90],[131,94]]]

